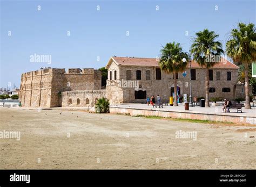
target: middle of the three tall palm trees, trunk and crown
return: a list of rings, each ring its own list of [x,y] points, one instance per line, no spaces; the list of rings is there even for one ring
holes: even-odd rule
[[[220,54],[223,54],[222,44],[216,41],[219,35],[207,28],[204,31],[196,33],[191,46],[193,60],[201,67],[206,68],[205,76],[205,107],[209,105],[209,68],[213,67],[220,61]]]

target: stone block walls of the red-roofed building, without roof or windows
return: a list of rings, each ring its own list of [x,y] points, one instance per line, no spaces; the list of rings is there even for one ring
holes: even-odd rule
[[[113,64],[113,65],[112,65]],[[111,103],[144,103],[145,99],[135,99],[134,91],[136,88],[124,88],[120,87],[119,82],[126,81],[126,70],[131,70],[132,80],[138,81],[138,90],[146,91],[146,95],[151,97],[154,95],[161,96],[162,100],[169,100],[171,96],[171,88],[174,87],[174,80],[172,74],[166,74],[161,71],[161,80],[156,80],[156,68],[155,67],[143,67],[143,66],[117,66],[112,63],[109,69],[112,72],[112,80],[108,77],[107,80],[107,94],[111,100]],[[191,81],[192,85],[192,97],[205,97],[205,68],[192,68],[196,69],[196,80]],[[114,70],[117,70],[117,80],[113,80]],[[136,80],[136,71],[141,71],[141,80]],[[150,71],[150,80],[146,80],[146,70]],[[220,71],[220,80],[217,80],[217,71]],[[231,71],[231,81],[227,81],[227,71]],[[186,69],[187,75],[184,77],[183,73],[178,73],[177,85],[180,87],[180,93],[183,95],[190,95],[190,70]],[[237,69],[213,69],[213,80],[210,81],[210,88],[215,88],[215,92],[210,93],[210,98],[220,97],[234,99],[235,96],[235,84],[237,83],[238,70]],[[230,88],[230,92],[223,92],[223,88]],[[112,97],[116,99],[112,99]]]

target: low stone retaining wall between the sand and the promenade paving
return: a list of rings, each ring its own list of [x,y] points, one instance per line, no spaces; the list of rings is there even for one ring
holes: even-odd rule
[[[220,122],[232,122],[232,123],[248,123],[256,124],[256,117],[247,117],[244,114],[241,116],[235,116],[232,114],[214,114],[214,113],[197,113],[197,112],[177,112],[177,111],[165,111],[165,110],[152,110],[152,109],[136,109],[110,106],[110,113],[130,114],[131,116],[143,115],[143,116],[159,116],[165,118],[183,118],[183,119],[198,119],[198,120],[210,120]]]

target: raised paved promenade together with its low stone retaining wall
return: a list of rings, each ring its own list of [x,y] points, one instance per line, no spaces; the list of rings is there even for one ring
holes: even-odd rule
[[[129,114],[130,116],[159,116],[170,118],[183,119],[198,119],[220,122],[231,122],[239,124],[256,124],[256,110],[244,109],[242,113],[237,110],[231,110],[229,113],[224,113],[222,106],[212,107],[190,107],[190,110],[185,110],[183,105],[179,106],[163,106],[163,108],[147,106],[147,104],[122,104],[111,105],[110,113]]]

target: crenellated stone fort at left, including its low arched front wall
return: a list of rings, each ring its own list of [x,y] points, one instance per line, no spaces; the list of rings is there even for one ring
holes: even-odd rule
[[[101,84],[99,70],[41,68],[22,74],[19,98],[25,107],[86,106],[105,97]]]

